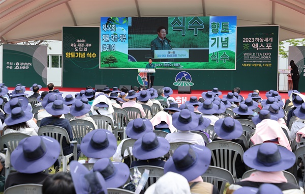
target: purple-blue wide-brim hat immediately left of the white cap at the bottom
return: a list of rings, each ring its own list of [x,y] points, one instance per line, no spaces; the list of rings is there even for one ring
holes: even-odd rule
[[[130,171],[126,163],[111,162],[109,158],[102,158],[95,162],[94,172],[100,172],[104,177],[107,188],[118,188],[126,183]]]

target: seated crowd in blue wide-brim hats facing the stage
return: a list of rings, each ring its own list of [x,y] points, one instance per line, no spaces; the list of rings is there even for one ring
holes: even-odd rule
[[[178,105],[169,87],[105,87],[97,93],[88,86],[74,97],[53,84],[47,87],[40,93],[42,87],[34,84],[28,95],[21,84],[12,93],[0,84],[1,141],[24,135],[15,149],[8,144],[0,154],[5,189],[34,183],[42,193],[107,193],[113,188],[221,193],[220,185],[204,179],[214,166],[234,179],[226,193],[304,193],[304,161],[295,155],[305,142],[305,95],[298,91],[289,91],[284,103],[273,90],[262,99],[258,90],[245,97],[239,88],[226,95],[214,88]],[[138,110],[134,119],[128,107]],[[119,116],[122,112],[126,117]],[[76,138],[82,132],[73,121],[90,127]],[[45,136],[44,126],[63,128],[67,136]],[[63,168],[60,154],[72,155]],[[162,174],[145,186],[142,166]]]

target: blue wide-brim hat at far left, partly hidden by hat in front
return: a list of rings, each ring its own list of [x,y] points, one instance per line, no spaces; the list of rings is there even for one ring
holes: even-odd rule
[[[3,110],[6,114],[11,114],[12,109],[16,107],[21,107],[23,111],[31,112],[32,107],[28,105],[27,98],[23,96],[19,96],[17,98],[12,98],[10,101],[8,101],[4,107]]]

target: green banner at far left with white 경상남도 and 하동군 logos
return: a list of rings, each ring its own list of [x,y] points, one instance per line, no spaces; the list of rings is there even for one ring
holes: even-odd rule
[[[47,46],[4,44],[3,82],[8,87],[46,86]]]

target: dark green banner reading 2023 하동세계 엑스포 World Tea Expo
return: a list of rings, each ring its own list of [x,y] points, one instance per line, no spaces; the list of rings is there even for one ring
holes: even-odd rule
[[[256,82],[259,90],[277,90],[279,26],[238,26],[236,69],[238,79]]]

